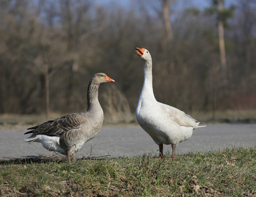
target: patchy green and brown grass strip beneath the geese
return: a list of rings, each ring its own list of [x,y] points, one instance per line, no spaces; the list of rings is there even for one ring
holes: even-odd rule
[[[0,161],[0,196],[256,196],[256,149]]]

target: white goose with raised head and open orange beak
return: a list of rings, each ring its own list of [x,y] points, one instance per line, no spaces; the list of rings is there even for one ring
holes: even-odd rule
[[[189,139],[199,122],[181,110],[158,102],[152,87],[152,58],[148,50],[136,48],[143,59],[144,83],[136,109],[136,119],[141,127],[158,144],[163,156],[163,144],[172,144],[172,160],[176,157],[176,144]]]

